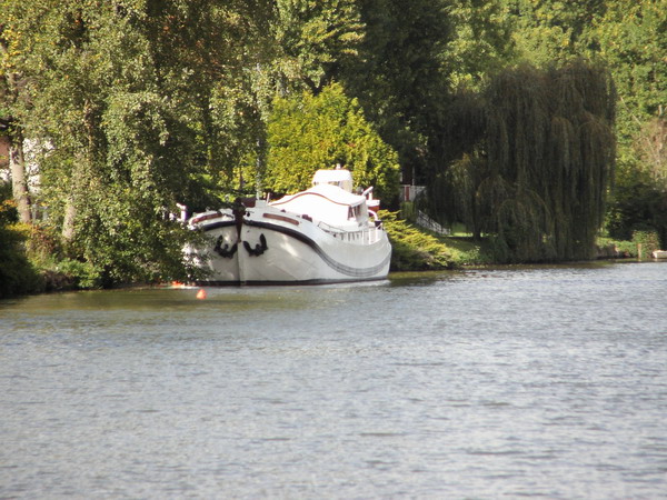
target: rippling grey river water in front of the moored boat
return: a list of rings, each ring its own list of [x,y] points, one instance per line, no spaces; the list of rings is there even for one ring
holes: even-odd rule
[[[667,263],[0,302],[0,498],[667,498]]]

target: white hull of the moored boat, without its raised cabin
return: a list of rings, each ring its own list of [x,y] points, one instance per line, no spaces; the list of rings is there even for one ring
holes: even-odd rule
[[[374,223],[340,231],[265,203],[238,217],[222,210],[199,219],[195,226],[210,239],[208,248],[190,250],[210,272],[200,283],[366,281],[389,272],[391,246]]]

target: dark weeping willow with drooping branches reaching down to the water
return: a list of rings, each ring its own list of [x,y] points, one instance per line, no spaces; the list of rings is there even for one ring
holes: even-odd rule
[[[450,117],[470,140],[435,176],[431,211],[489,234],[501,261],[590,258],[614,176],[615,98],[606,69],[580,60],[498,74]]]

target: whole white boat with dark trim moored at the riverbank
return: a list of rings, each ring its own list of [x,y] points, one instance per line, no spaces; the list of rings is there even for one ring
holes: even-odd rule
[[[306,191],[196,214],[189,226],[210,244],[186,251],[208,271],[200,284],[385,279],[391,244],[378,206],[372,188],[352,193],[348,170],[319,170]]]

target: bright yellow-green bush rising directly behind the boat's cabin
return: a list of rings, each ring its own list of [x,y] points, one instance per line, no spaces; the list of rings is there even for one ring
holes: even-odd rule
[[[318,96],[278,98],[268,131],[265,186],[270,190],[306,189],[318,169],[341,164],[352,172],[356,186],[375,186],[379,198],[388,200],[397,192],[396,153],[339,83]]]

